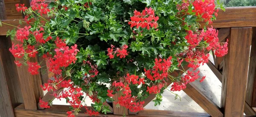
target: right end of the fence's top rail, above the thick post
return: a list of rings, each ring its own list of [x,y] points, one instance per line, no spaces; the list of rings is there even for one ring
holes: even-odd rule
[[[226,11],[219,9],[217,20],[207,25],[213,28],[231,28],[231,27],[256,27],[256,7],[227,7]],[[201,22],[203,26],[205,23]],[[202,27],[201,27],[202,28]]]

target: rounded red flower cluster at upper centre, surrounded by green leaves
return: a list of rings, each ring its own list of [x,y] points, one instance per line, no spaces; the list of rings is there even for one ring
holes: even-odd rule
[[[152,8],[145,8],[145,10],[140,13],[139,11],[134,11],[134,16],[131,17],[131,21],[128,22],[131,25],[131,28],[136,26],[136,28],[147,28],[148,30],[151,28],[157,28],[157,20],[159,17],[154,16],[154,10]],[[154,21],[153,21],[154,20]]]

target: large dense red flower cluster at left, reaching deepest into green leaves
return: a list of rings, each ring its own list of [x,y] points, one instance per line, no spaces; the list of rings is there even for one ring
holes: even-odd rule
[[[59,45],[56,42],[58,41],[55,41],[55,44]],[[60,48],[55,49],[55,56],[49,57],[47,64],[49,67],[49,71],[55,73],[56,75],[61,74],[61,67],[67,67],[70,64],[75,63],[77,59],[76,54],[77,52],[79,52],[76,44],[74,46],[68,47],[64,42],[61,41],[61,45],[63,45],[63,47],[57,46]]]

